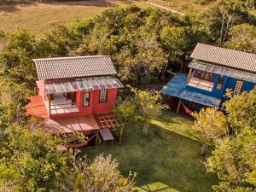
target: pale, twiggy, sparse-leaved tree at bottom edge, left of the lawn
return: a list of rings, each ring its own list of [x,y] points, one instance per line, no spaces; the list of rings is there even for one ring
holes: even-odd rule
[[[119,172],[117,160],[110,155],[96,156],[91,164],[85,158],[73,157],[73,168],[67,172],[61,183],[58,183],[58,191],[134,191],[135,174],[130,173],[123,177]]]

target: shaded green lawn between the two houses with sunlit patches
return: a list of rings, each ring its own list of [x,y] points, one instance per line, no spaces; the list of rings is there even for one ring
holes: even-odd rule
[[[137,123],[125,127],[122,144],[101,144],[83,153],[90,159],[112,154],[125,176],[137,172],[139,191],[211,192],[217,178],[206,173],[191,125],[188,118],[164,113],[152,121],[148,137],[142,137]]]

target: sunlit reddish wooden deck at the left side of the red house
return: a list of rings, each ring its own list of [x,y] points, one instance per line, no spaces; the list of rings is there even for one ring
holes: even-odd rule
[[[26,105],[26,116],[49,119],[49,115],[41,96],[30,96],[29,100],[30,102]]]

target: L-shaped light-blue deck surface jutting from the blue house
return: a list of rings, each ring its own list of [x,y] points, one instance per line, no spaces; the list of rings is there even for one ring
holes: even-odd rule
[[[186,89],[186,83],[188,74],[177,73],[168,84],[161,90],[163,94],[169,96],[176,96],[178,98],[188,100],[190,102],[197,102],[201,105],[209,106],[212,108],[218,108],[221,100],[213,96],[207,96],[202,93],[198,93],[192,90]]]

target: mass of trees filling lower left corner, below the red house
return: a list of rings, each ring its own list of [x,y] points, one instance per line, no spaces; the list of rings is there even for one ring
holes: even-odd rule
[[[63,143],[38,128],[38,122],[9,125],[0,132],[0,191],[133,191],[134,175],[127,178],[111,157],[63,153]]]

